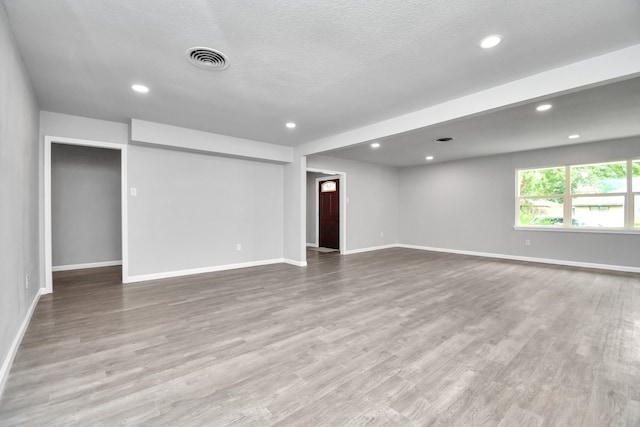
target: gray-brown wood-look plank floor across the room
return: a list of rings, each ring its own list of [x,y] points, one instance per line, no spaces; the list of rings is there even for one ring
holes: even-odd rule
[[[640,425],[640,276],[388,249],[57,274],[0,425]]]

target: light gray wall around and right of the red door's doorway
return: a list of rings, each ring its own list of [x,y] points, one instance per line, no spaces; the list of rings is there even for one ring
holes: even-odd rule
[[[398,243],[396,168],[319,155],[307,167],[347,174],[347,251]]]

